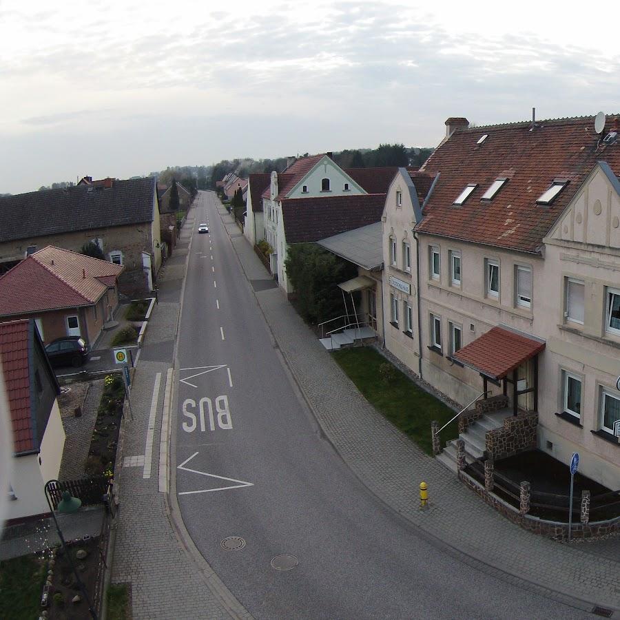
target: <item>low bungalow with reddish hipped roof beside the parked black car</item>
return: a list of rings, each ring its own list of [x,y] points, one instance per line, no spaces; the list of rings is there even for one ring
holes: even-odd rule
[[[0,278],[0,320],[32,318],[41,340],[81,336],[92,345],[118,306],[123,265],[48,246]]]

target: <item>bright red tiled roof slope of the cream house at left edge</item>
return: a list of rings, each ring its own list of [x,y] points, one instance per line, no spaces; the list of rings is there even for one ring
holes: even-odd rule
[[[30,411],[28,320],[0,323],[0,357],[13,426],[14,452],[37,448]]]

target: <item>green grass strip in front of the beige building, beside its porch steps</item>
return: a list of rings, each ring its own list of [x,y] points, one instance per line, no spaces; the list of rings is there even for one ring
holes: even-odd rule
[[[333,357],[368,402],[411,437],[424,452],[433,454],[431,422],[437,420],[441,428],[455,415],[455,411],[417,387],[371,347],[341,349],[334,351]],[[393,368],[393,379],[389,383],[382,379],[382,364]],[[452,422],[442,431],[442,444],[457,436],[457,423]]]

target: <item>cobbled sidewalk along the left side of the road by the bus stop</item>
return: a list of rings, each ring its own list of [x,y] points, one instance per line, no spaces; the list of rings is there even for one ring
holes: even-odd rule
[[[189,220],[182,231],[175,256],[187,255],[192,225],[193,220]],[[158,486],[161,412],[167,371],[173,366],[173,348],[167,343],[176,338],[181,290],[180,287],[167,286],[166,282],[178,280],[179,269],[184,269],[183,265],[177,265],[178,262],[176,260],[169,268],[165,267],[158,278],[158,285],[167,294],[165,301],[161,299],[154,307],[147,328],[143,350],[148,351],[151,347],[152,354],[145,353],[138,359],[131,397],[134,419],[125,422],[122,460],[116,472],[121,519],[116,535],[112,582],[131,584],[134,620],[217,620],[230,617],[220,603],[221,599],[207,586],[216,576],[209,573],[204,561],[199,558],[194,561],[188,555],[185,550],[187,541],[180,540],[178,530],[172,526],[166,497],[159,492]],[[183,271],[180,277],[183,277]],[[153,354],[154,351],[157,355]],[[158,373],[161,378],[154,396]],[[157,413],[151,474],[145,479],[143,464],[147,455],[145,446],[152,402],[156,404]]]

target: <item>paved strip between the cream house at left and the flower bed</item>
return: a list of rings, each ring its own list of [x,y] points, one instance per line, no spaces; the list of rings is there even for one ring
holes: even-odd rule
[[[82,406],[81,417],[63,415],[65,447],[59,480],[75,480],[84,476],[86,457],[90,451],[92,431],[97,420],[97,409],[103,393],[103,379],[92,381]]]

